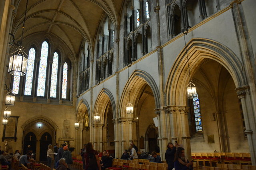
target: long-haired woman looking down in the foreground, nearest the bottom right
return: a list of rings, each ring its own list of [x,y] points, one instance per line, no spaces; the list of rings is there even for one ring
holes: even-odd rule
[[[185,157],[185,150],[182,147],[178,147],[175,158],[174,158],[174,168],[175,170],[189,170],[192,169],[193,162],[189,162]]]

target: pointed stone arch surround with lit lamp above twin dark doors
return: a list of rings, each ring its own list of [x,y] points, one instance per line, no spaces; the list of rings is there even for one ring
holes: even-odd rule
[[[41,124],[41,126],[38,126],[38,124]],[[36,161],[39,161],[40,158],[40,138],[43,133],[47,132],[52,136],[52,144],[56,143],[56,132],[57,132],[58,126],[54,123],[54,121],[48,119],[44,115],[38,115],[26,123],[22,125],[23,130],[23,141],[25,140],[25,136],[29,132],[33,132],[36,136]],[[24,144],[23,144],[24,145]],[[32,146],[33,147],[33,146]],[[24,148],[24,146],[22,146]],[[33,152],[34,153],[34,152]]]

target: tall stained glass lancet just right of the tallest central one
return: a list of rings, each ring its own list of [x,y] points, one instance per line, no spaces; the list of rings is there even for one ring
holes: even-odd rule
[[[57,77],[58,77],[58,61],[59,61],[59,55],[58,55],[58,53],[55,52],[53,54],[50,97],[56,97]]]

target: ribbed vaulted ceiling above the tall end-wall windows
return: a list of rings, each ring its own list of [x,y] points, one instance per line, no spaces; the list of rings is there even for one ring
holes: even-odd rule
[[[12,34],[21,39],[27,0],[16,0],[16,17]],[[78,56],[85,38],[94,45],[98,25],[106,13],[114,25],[119,25],[124,0],[28,0],[24,39],[37,34],[56,36],[70,53]]]

